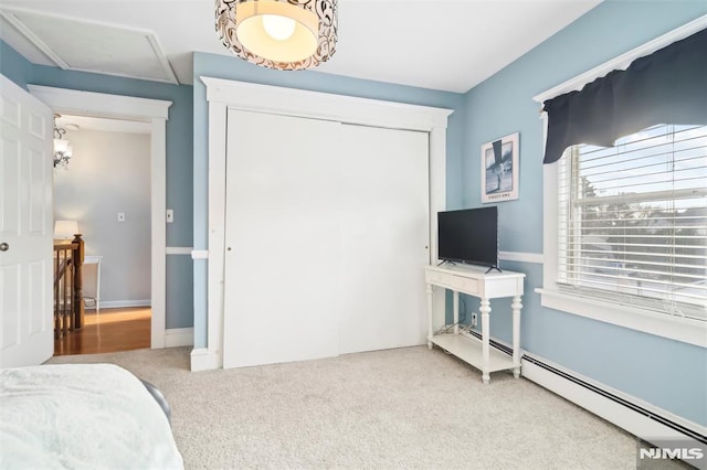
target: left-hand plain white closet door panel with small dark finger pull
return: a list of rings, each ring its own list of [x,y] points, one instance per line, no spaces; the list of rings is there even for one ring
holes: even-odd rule
[[[224,367],[338,354],[339,129],[229,110]]]

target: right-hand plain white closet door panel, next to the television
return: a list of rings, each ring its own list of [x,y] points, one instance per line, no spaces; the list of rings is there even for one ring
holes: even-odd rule
[[[339,353],[423,344],[429,135],[341,127]]]

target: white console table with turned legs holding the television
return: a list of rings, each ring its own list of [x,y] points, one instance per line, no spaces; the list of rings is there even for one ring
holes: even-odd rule
[[[425,282],[428,285],[428,314],[430,319],[428,348],[436,344],[461,360],[482,371],[482,381],[487,384],[490,373],[513,368],[514,376],[520,376],[520,297],[525,274],[511,271],[490,271],[484,267],[468,265],[426,266]],[[442,287],[453,291],[454,330],[451,334],[434,334],[433,325],[433,287]],[[460,292],[481,299],[482,340],[460,334]],[[490,349],[488,337],[490,330],[490,299],[513,297],[513,357]],[[443,312],[442,312],[443,313]]]

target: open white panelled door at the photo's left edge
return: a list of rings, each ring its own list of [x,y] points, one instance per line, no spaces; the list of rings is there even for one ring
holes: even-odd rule
[[[0,75],[0,367],[52,356],[52,110]]]

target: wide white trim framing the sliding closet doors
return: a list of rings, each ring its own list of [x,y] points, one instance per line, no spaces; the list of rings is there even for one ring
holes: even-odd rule
[[[192,353],[192,371],[223,366],[228,108],[430,132],[430,254],[435,256],[436,213],[446,206],[446,126],[452,109],[200,78],[207,85],[209,103],[208,332],[207,348]]]

